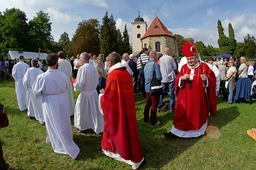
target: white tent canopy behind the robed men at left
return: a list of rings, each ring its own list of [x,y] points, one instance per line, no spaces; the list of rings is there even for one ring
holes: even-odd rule
[[[7,56],[9,59],[15,59],[19,58],[19,56],[24,56],[24,58],[29,58],[29,59],[34,59],[38,57],[38,52],[26,52],[23,51],[22,53],[18,53],[18,51],[8,51]],[[47,54],[46,53],[41,53],[40,52],[40,57],[39,59],[46,59]]]

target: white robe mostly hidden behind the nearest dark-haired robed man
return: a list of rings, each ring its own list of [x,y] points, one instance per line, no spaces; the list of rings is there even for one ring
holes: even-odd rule
[[[59,64],[58,70],[66,74],[68,81],[70,81],[69,78],[72,75],[71,64],[65,59],[59,59],[58,64]],[[68,83],[67,99],[68,99],[69,115],[72,116],[74,115],[74,111],[75,111],[75,100],[74,100],[71,83]]]

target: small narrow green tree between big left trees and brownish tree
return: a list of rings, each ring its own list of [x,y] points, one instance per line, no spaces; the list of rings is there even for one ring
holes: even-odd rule
[[[68,33],[64,32],[60,35],[58,44],[61,47],[61,50],[65,52],[66,56],[71,57],[73,55]]]

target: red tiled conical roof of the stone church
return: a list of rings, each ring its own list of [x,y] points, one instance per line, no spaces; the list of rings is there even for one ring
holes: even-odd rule
[[[158,26],[155,28],[155,26]],[[151,25],[149,26],[149,29],[146,31],[144,36],[141,39],[144,39],[146,37],[149,37],[150,35],[170,35],[172,37],[173,34],[167,30],[167,28],[164,26],[164,24],[160,21],[160,19],[156,16]]]

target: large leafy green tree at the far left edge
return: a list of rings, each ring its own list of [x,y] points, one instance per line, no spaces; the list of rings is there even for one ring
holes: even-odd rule
[[[16,8],[6,9],[0,15],[0,52],[6,56],[8,50],[28,50],[29,39],[27,16]]]

